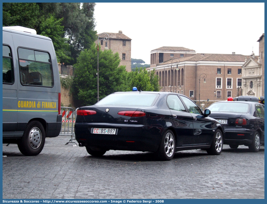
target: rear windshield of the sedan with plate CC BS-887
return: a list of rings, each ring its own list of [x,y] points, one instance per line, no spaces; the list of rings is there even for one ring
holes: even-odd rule
[[[96,105],[131,105],[138,107],[153,106],[159,94],[155,93],[114,93],[100,100]]]

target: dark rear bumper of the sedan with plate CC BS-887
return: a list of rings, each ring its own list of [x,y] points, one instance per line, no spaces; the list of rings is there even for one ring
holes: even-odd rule
[[[116,128],[116,135],[92,134],[92,128]],[[121,123],[76,123],[75,138],[85,146],[105,150],[155,152],[165,128]]]

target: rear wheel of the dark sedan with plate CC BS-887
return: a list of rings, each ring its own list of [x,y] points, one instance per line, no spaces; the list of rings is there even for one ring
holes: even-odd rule
[[[159,148],[156,152],[158,158],[163,161],[169,161],[173,158],[175,153],[175,138],[171,130],[167,130],[159,144]]]

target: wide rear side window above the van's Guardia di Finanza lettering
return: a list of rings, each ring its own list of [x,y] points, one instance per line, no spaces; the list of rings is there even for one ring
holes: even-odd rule
[[[52,63],[47,52],[19,48],[18,57],[22,85],[53,87]]]

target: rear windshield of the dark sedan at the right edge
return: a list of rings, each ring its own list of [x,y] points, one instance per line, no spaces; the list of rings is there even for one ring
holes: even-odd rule
[[[235,103],[235,102],[225,102],[225,103],[214,103],[208,108],[211,112],[236,112],[236,113],[248,113],[249,104],[247,103]]]

